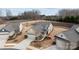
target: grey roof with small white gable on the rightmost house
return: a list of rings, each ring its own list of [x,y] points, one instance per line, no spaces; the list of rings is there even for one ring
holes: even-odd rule
[[[68,31],[59,33],[56,36],[61,39],[67,40],[67,41],[78,42],[79,41],[79,33],[76,31],[77,27],[79,27],[79,25],[74,25]]]

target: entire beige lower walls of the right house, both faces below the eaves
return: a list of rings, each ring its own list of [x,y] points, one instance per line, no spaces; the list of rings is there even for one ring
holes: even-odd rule
[[[60,38],[56,38],[56,46],[59,49],[75,49],[77,48],[77,43],[76,42],[67,42],[65,40],[62,40]]]

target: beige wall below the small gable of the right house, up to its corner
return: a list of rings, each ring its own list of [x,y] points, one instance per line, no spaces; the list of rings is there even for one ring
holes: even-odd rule
[[[62,40],[60,38],[56,38],[56,46],[58,49],[67,50],[69,49],[69,42]]]

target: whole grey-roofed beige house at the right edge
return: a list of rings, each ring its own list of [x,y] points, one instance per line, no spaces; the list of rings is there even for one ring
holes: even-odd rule
[[[79,47],[79,25],[72,26],[55,36],[58,49],[71,50]]]

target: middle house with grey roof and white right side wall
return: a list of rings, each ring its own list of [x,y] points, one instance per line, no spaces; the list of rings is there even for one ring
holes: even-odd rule
[[[43,40],[52,30],[53,25],[50,22],[38,22],[27,31],[27,35],[34,35],[36,40]]]

